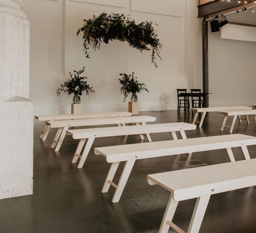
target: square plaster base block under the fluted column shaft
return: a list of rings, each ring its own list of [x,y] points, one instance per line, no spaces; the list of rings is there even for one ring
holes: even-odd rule
[[[0,103],[0,199],[33,193],[33,105],[14,97]]]

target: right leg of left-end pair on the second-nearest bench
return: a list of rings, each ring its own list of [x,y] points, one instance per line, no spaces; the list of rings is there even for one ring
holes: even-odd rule
[[[132,170],[132,167],[133,167],[134,163],[135,163],[135,160],[128,160],[128,161],[125,162],[124,169],[123,169],[121,177],[118,181],[118,185],[116,187],[114,197],[112,199],[113,203],[118,202],[120,200],[120,197],[123,193],[124,187],[125,187],[126,182],[129,178],[129,175],[131,173],[131,170]]]

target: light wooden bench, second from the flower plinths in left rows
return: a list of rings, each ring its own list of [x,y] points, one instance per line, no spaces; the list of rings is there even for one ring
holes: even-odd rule
[[[76,119],[76,120],[49,120],[46,121],[47,125],[51,128],[58,128],[57,133],[53,139],[51,148],[59,151],[60,146],[66,135],[66,130],[74,126],[88,126],[88,125],[104,125],[104,124],[117,124],[118,126],[125,126],[126,123],[135,123],[136,125],[146,124],[146,122],[156,121],[153,116],[123,116],[123,117],[105,117],[105,118],[90,118],[90,119]],[[147,135],[150,139],[150,135]],[[143,135],[140,135],[144,139]],[[151,140],[151,139],[150,139]]]

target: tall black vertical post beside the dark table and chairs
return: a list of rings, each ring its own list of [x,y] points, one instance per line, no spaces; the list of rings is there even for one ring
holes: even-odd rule
[[[203,92],[209,93],[208,81],[208,22],[202,22],[202,44],[203,44]],[[203,97],[203,107],[209,107],[209,96]]]

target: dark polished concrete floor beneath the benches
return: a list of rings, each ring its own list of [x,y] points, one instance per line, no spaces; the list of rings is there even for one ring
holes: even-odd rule
[[[193,114],[181,111],[148,111],[140,115],[156,116],[157,121],[192,122]],[[254,116],[251,123],[235,124],[233,133],[256,136]],[[220,132],[223,116],[209,113],[202,128],[187,132],[187,137],[229,134]],[[229,122],[231,119],[228,119]],[[46,141],[39,139],[43,122],[34,122],[34,194],[0,200],[0,232],[158,232],[170,193],[158,185],[149,185],[147,174],[186,168],[178,161],[187,155],[142,159],[135,162],[119,203],[112,203],[114,188],[101,193],[110,164],[91,149],[85,165],[77,169],[71,163],[78,140],[66,136],[59,152],[50,148],[56,130]],[[171,139],[170,133],[151,134],[152,141]],[[178,135],[180,138],[180,135]],[[96,138],[93,147],[124,143],[143,143],[139,135]],[[248,147],[256,158],[256,145]],[[242,160],[240,149],[234,149]],[[192,159],[207,164],[228,162],[225,150],[193,153]],[[123,164],[118,169],[120,175]],[[115,180],[114,180],[115,181]],[[256,232],[256,188],[244,188],[211,196],[200,232]],[[179,203],[173,222],[187,231],[195,199]],[[174,232],[170,230],[169,232]]]

